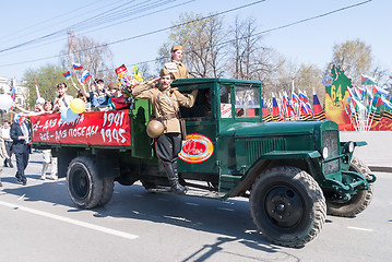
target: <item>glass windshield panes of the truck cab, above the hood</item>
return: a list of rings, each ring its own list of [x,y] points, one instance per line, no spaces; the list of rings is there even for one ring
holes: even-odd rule
[[[233,118],[233,103],[235,117],[260,117],[260,93],[253,85],[234,85],[234,100],[231,100],[231,85],[221,86],[221,117]]]

